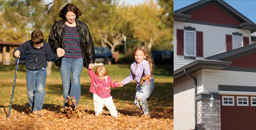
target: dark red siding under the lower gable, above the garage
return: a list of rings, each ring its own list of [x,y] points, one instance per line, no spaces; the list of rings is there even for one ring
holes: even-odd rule
[[[242,56],[238,59],[231,60],[232,67],[246,67],[246,68],[256,68],[256,53],[250,55]]]

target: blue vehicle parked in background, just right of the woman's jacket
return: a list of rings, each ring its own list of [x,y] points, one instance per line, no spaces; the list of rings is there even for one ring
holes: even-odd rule
[[[112,53],[109,47],[94,47],[95,62],[112,64],[115,63],[115,59],[112,57]]]

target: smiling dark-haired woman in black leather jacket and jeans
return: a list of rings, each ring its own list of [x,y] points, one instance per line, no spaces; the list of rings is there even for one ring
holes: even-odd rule
[[[52,26],[48,40],[52,52],[59,57],[63,56],[55,62],[61,71],[63,97],[66,101],[67,95],[74,96],[77,104],[81,95],[82,67],[95,67],[95,51],[88,26],[77,20],[81,15],[80,10],[72,3],[64,6],[59,12],[62,20]]]

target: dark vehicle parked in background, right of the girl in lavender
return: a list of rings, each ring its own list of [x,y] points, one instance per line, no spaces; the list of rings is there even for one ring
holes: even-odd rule
[[[151,58],[155,64],[174,64],[174,51],[155,50]]]

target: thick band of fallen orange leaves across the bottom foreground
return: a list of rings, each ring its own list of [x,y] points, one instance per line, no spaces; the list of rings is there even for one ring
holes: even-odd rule
[[[10,118],[0,114],[1,129],[173,129],[173,119],[129,116],[118,110],[119,118],[103,110],[101,116],[93,116],[93,110],[77,109],[71,113],[51,112],[43,109],[38,117],[13,110]],[[62,111],[62,110],[61,110]]]

